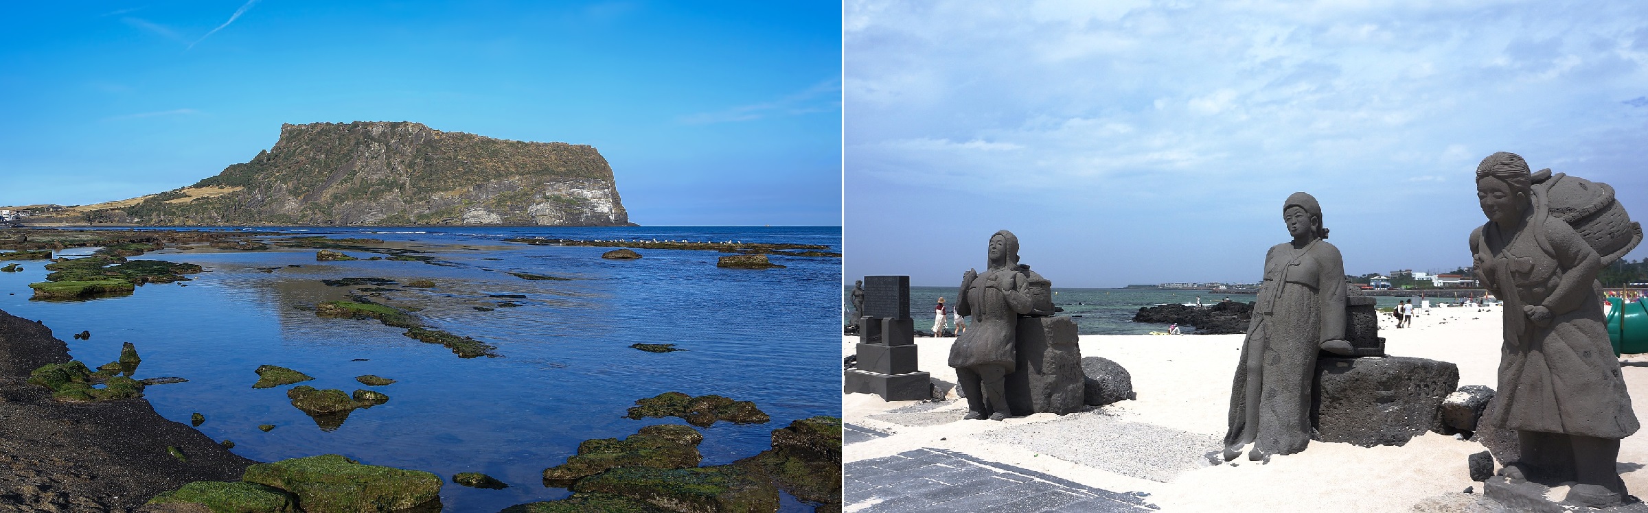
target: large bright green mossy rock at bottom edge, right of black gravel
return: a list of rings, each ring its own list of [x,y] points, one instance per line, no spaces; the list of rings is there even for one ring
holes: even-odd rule
[[[440,500],[443,483],[435,474],[363,465],[336,454],[250,465],[241,480],[297,495],[305,513],[407,510]]]

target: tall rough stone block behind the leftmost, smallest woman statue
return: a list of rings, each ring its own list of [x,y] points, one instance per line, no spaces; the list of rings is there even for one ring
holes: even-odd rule
[[[1007,375],[1007,406],[1014,414],[1081,409],[1086,375],[1076,347],[1076,321],[1020,317],[1015,335],[1017,365]]]

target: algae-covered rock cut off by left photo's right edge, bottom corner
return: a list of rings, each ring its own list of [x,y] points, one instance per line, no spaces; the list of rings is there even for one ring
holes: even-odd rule
[[[733,462],[801,500],[840,503],[840,419],[816,416],[773,429],[773,449]]]

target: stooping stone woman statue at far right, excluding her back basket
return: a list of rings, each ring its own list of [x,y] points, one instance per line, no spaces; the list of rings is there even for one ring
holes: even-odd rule
[[[1625,482],[1613,465],[1638,424],[1602,317],[1602,261],[1543,201],[1541,174],[1503,151],[1477,166],[1488,222],[1470,233],[1470,252],[1505,304],[1500,403],[1482,423],[1518,434],[1521,460],[1498,472],[1508,482],[1577,482],[1564,503],[1618,505]]]

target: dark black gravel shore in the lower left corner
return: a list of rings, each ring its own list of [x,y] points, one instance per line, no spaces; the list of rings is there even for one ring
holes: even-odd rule
[[[190,482],[236,480],[255,464],[162,418],[142,398],[53,401],[49,390],[26,383],[30,372],[48,363],[69,363],[68,345],[41,324],[0,312],[0,408],[7,413],[0,455],[10,459],[0,472],[0,490],[8,490],[3,505],[74,510],[46,506],[61,493],[81,510],[132,511]],[[168,454],[168,446],[188,462]]]

